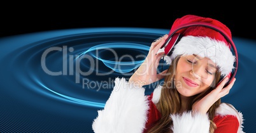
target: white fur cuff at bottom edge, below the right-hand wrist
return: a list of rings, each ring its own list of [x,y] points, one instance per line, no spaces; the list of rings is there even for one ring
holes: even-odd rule
[[[171,115],[173,119],[173,132],[175,133],[209,133],[210,120],[208,115],[185,112],[182,115]]]

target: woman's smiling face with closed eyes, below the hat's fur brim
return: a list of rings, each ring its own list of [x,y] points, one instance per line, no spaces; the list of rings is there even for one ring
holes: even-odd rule
[[[174,84],[182,96],[194,96],[212,84],[216,72],[216,65],[209,58],[196,54],[181,56],[174,75]]]

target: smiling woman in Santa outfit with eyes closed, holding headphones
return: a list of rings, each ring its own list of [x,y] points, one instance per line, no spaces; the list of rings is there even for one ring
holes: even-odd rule
[[[223,23],[195,15],[178,18],[171,31],[188,22],[211,23],[231,37]],[[182,37],[170,56],[164,56],[160,49],[168,38],[164,35],[152,43],[148,56],[129,82],[115,80],[104,110],[98,111],[92,124],[94,132],[243,132],[243,115],[234,106],[221,102],[236,79],[225,85],[225,77],[218,84],[234,68],[236,57],[229,42],[217,30],[203,26],[177,33]],[[171,65],[157,73],[162,56]],[[164,84],[145,96],[143,85],[162,78]]]

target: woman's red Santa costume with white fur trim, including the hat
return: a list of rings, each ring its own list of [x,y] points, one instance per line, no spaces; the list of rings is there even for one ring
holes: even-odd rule
[[[186,15],[177,19],[173,28],[189,22],[206,22],[222,28],[231,37],[231,32],[222,23],[211,18]],[[210,32],[209,32],[210,31]],[[234,68],[234,58],[229,43],[217,31],[207,27],[189,27],[180,31],[181,40],[174,46],[171,56],[165,56],[167,63],[178,55],[198,54],[214,61],[221,74],[227,75]],[[213,47],[214,46],[214,47]],[[205,54],[202,51],[207,51]],[[103,110],[98,111],[98,116],[92,123],[96,133],[141,133],[146,132],[150,124],[159,120],[160,112],[155,104],[160,99],[162,85],[158,85],[150,96],[145,96],[145,88],[127,82],[124,78],[115,79],[115,87],[106,101]],[[170,114],[173,125],[170,128],[174,133],[204,133],[210,131],[208,114],[187,111],[181,115]],[[242,133],[243,115],[234,106],[221,103],[216,110],[213,122],[217,125],[215,133]]]

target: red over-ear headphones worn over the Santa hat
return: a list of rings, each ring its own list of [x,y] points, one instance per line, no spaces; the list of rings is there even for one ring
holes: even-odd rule
[[[226,41],[229,42],[229,44],[231,44],[231,51],[236,56],[236,61],[235,61],[234,70],[232,70],[231,73],[224,76],[224,77],[229,77],[229,80],[226,82],[224,87],[227,86],[228,84],[230,84],[232,79],[234,79],[236,72],[238,71],[238,51],[236,50],[236,46],[234,45],[234,42],[232,41],[231,37],[229,37],[229,35],[227,35],[227,33],[224,30],[222,30],[222,28],[217,27],[216,25],[212,25],[211,23],[205,23],[205,22],[185,23],[185,24],[180,25],[170,31],[169,37],[166,39],[166,42],[161,46],[161,48],[164,47],[164,53],[167,56],[171,56],[171,54],[173,53],[173,47],[180,41],[180,39],[182,37],[181,34],[176,33],[176,32],[178,32],[179,30],[181,30],[183,28],[188,28],[188,27],[193,27],[193,26],[203,26],[203,27],[208,27],[213,30],[216,30],[217,32],[219,32],[220,34],[222,34],[225,37]],[[220,78],[220,81],[218,82],[217,85],[219,85],[220,82],[222,82],[224,77]]]

